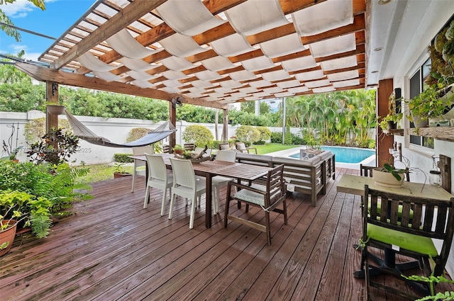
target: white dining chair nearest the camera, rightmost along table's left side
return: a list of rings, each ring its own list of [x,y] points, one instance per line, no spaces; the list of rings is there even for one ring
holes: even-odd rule
[[[189,229],[194,227],[194,215],[196,210],[196,200],[206,191],[205,181],[197,181],[190,160],[170,158],[173,171],[172,198],[170,199],[169,220],[173,216],[176,195],[187,198],[191,201],[191,217],[189,219]]]

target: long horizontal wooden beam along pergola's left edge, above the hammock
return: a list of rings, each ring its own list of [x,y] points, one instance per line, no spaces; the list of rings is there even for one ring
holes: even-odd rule
[[[67,86],[78,86],[87,89],[96,89],[101,91],[109,91],[115,93],[122,93],[134,96],[143,96],[147,98],[157,98],[165,101],[170,101],[175,94],[167,93],[157,89],[140,88],[131,84],[123,84],[118,81],[104,81],[92,76],[85,76],[82,74],[75,74],[70,72],[63,72],[57,69],[49,69],[45,67],[36,66],[33,64],[17,62],[16,68],[25,72],[29,76],[38,81],[54,81],[58,84]],[[209,108],[224,109],[227,106],[223,103],[216,101],[203,101],[198,98],[184,97],[183,103],[190,103],[196,106],[205,106]]]

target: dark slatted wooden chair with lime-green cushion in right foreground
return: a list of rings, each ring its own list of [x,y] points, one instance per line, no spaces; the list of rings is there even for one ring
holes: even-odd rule
[[[371,286],[411,300],[419,298],[402,290],[375,283],[371,276],[378,273],[394,275],[419,293],[429,295],[427,283],[417,283],[402,277],[403,270],[409,268],[411,262],[395,264],[395,255],[403,254],[419,259],[414,263],[416,266],[422,264],[424,276],[442,276],[453,241],[454,198],[436,200],[402,196],[373,190],[365,185],[364,200],[360,242],[362,245],[361,269],[365,270],[367,300],[370,298]],[[382,203],[380,211],[377,210],[378,202]],[[411,214],[414,216],[413,219],[410,218]],[[441,239],[443,242],[441,251],[436,249],[433,239]],[[371,246],[384,250],[384,260],[367,251]],[[370,264],[368,259],[372,259],[378,265]],[[429,259],[433,261],[433,271]]]

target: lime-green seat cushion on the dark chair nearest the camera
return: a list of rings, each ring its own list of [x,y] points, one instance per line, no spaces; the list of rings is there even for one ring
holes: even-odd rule
[[[367,224],[367,237],[375,239],[378,242],[383,242],[384,244],[392,244],[420,254],[438,256],[432,239],[429,237],[422,237],[371,224]]]

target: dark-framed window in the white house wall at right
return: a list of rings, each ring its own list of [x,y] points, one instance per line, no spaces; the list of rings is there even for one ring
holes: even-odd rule
[[[424,82],[431,72],[431,59],[427,59],[426,62],[421,66],[413,76],[410,77],[410,98],[418,95],[425,89],[426,85]],[[414,127],[413,123],[410,123],[410,127]],[[410,136],[410,144],[421,145],[433,149],[433,138],[432,137],[421,137],[421,136]]]

